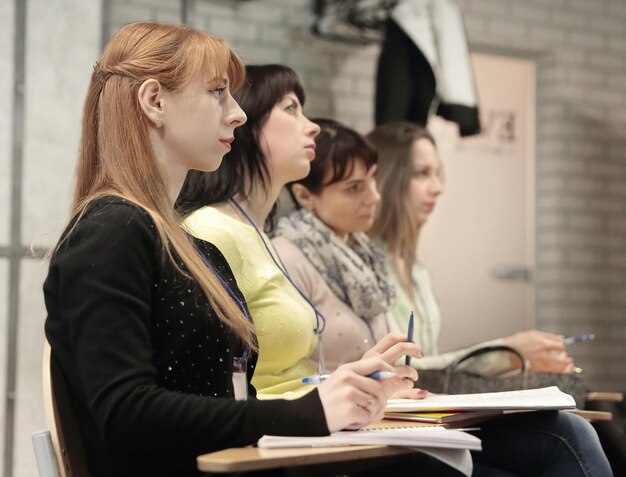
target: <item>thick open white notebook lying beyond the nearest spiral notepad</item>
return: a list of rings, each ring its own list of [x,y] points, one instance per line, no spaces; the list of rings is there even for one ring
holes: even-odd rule
[[[387,412],[574,409],[576,402],[569,394],[551,386],[521,391],[476,394],[434,394],[425,399],[390,399]]]

